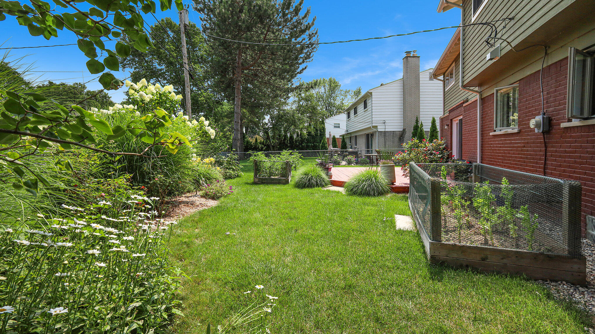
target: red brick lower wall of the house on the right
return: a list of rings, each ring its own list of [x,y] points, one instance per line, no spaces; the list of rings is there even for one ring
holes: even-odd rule
[[[560,127],[566,118],[566,81],[568,58],[543,69],[544,109],[550,116],[550,131],[546,133],[546,175],[574,179],[583,186],[582,222],[585,215],[595,215],[595,125]],[[494,95],[482,99],[481,160],[487,165],[543,174],[543,135],[529,127],[530,119],[541,113],[540,73],[519,80],[519,132],[491,136],[494,128]],[[450,122],[463,115],[463,157],[477,160],[475,129],[477,101],[454,109],[440,120],[443,137],[450,145]],[[469,119],[468,122],[466,120]],[[449,129],[444,129],[449,124]]]

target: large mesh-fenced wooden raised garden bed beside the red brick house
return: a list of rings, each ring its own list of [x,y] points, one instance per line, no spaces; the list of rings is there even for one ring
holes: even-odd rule
[[[585,285],[579,182],[479,163],[409,168],[431,262]]]

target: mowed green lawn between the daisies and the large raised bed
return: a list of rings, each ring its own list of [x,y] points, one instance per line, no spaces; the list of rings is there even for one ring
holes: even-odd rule
[[[271,333],[584,333],[588,317],[522,278],[428,264],[396,231],[407,197],[346,196],[229,181],[234,193],[180,222],[170,248],[189,275],[172,332],[205,333],[264,285]],[[230,232],[226,235],[225,232]],[[236,235],[233,235],[236,233]]]

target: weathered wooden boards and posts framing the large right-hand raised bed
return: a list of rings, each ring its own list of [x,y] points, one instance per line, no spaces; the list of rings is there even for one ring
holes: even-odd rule
[[[476,175],[473,175],[476,178]],[[425,254],[431,263],[445,263],[455,267],[465,267],[482,272],[511,273],[524,275],[531,279],[564,281],[575,285],[585,286],[587,261],[580,254],[580,210],[577,203],[565,200],[562,206],[563,217],[568,226],[565,237],[565,249],[568,254],[542,253],[537,251],[516,250],[478,245],[456,244],[442,242],[442,222],[440,203],[440,179],[430,178],[430,201],[428,213],[430,216],[429,233],[424,228],[422,218],[412,203],[412,193],[409,193],[409,209],[424,244]],[[413,187],[413,185],[411,185]],[[580,196],[581,188],[578,182],[566,182],[565,199],[568,196]],[[578,204],[580,207],[580,203]],[[578,240],[578,242],[576,242]]]

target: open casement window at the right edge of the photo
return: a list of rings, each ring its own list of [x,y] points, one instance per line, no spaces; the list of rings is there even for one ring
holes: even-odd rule
[[[595,59],[592,54],[575,48],[568,54],[568,118],[588,119],[595,117]]]

